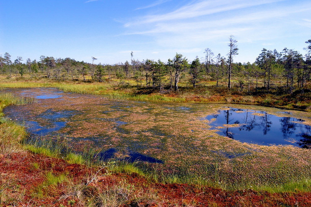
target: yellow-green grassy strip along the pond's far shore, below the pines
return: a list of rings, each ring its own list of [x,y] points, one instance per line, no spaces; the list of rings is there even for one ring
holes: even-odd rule
[[[186,79],[183,81],[186,81]],[[286,96],[284,94],[279,94],[278,91],[280,91],[280,89],[278,87],[271,90],[271,94],[267,94],[265,89],[259,89],[260,93],[257,94],[253,88],[251,93],[248,93],[246,90],[240,91],[236,87],[228,90],[224,84],[220,87],[215,87],[214,84],[211,84],[213,81],[203,81],[202,84],[197,86],[197,88],[193,88],[187,81],[183,81],[180,82],[180,90],[178,92],[171,91],[168,94],[158,93],[151,88],[139,88],[132,79],[109,79],[101,83],[68,80],[61,82],[47,78],[18,80],[2,79],[0,88],[53,87],[65,92],[94,94],[108,99],[149,102],[243,103],[253,105],[286,106],[288,108],[300,109],[308,109],[310,106],[309,98],[308,100],[303,99],[304,101],[300,102],[295,97],[287,96],[287,99],[285,99],[284,97]],[[124,84],[126,84],[126,87],[123,87]],[[281,91],[283,92],[283,90]]]

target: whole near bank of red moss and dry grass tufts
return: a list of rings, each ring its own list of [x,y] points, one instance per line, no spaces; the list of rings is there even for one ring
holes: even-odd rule
[[[47,172],[66,179],[45,186]],[[0,175],[1,206],[311,206],[307,192],[271,194],[153,183],[135,173],[111,174],[105,168],[29,152],[1,155]]]

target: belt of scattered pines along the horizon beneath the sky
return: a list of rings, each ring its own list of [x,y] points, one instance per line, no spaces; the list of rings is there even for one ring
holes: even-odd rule
[[[40,56],[39,60],[30,60],[23,63],[22,57],[11,59],[9,53],[0,55],[0,73],[7,78],[25,74],[30,77],[49,78],[56,80],[83,80],[99,81],[106,79],[133,79],[138,87],[152,87],[155,90],[179,90],[179,79],[187,77],[191,87],[197,87],[202,79],[215,81],[215,86],[226,82],[225,87],[234,86],[248,91],[253,88],[257,91],[258,82],[267,92],[276,87],[272,80],[282,80],[282,87],[290,93],[293,89],[304,89],[310,81],[311,74],[311,39],[306,41],[306,55],[298,51],[284,48],[282,51],[262,49],[254,63],[234,62],[238,55],[237,41],[230,36],[228,54],[225,56],[205,49],[204,58],[188,60],[182,54],[177,54],[165,62],[161,60],[135,60],[133,52],[131,61],[114,65],[94,64],[76,61],[71,58],[55,59],[51,56]],[[224,87],[224,85],[221,85]]]

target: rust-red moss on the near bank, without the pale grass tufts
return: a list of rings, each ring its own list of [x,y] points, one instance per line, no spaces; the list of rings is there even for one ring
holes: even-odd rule
[[[34,163],[39,168],[34,167]],[[4,184],[10,180],[12,185],[18,185],[18,191],[25,191],[19,199],[18,206],[32,204],[33,206],[70,206],[69,200],[73,197],[60,199],[67,191],[66,183],[59,184],[53,192],[48,191],[47,196],[38,198],[31,196],[35,188],[41,185],[47,172],[53,172],[54,175],[67,174],[75,184],[86,183],[86,177],[95,175],[98,169],[86,167],[77,164],[68,164],[66,161],[57,158],[35,155],[27,152],[14,153],[0,157],[0,184]],[[104,171],[100,172],[101,174]],[[275,193],[256,192],[253,190],[241,190],[227,192],[221,189],[210,187],[196,187],[187,184],[159,184],[147,181],[145,178],[137,174],[113,174],[110,176],[102,176],[90,184],[96,189],[113,187],[118,185],[120,181],[126,181],[128,184],[135,186],[133,194],[153,191],[156,199],[152,201],[146,200],[130,200],[127,206],[311,206],[311,193],[295,192],[295,193]],[[93,192],[92,191],[92,192]],[[16,196],[16,192],[12,190],[12,196]],[[91,193],[91,192],[90,192]],[[3,201],[5,205],[11,205]],[[74,206],[79,206],[76,203]]]

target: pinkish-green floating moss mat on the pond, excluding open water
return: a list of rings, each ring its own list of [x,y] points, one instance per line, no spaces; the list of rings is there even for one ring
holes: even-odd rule
[[[39,94],[39,91],[36,93]],[[79,94],[71,96],[64,95],[57,101],[50,100],[52,102],[46,100],[37,103],[36,106],[24,107],[23,110],[38,115],[48,109],[81,111],[80,114],[72,116],[70,122],[67,122],[68,126],[61,130],[67,133],[66,139],[72,136],[73,141],[84,137],[85,132],[88,132],[91,133],[88,136],[98,137],[93,141],[96,144],[103,144],[103,149],[117,148],[119,151],[115,155],[121,159],[126,159],[129,151],[134,150],[163,160],[165,163],[163,165],[138,165],[145,174],[155,173],[160,165],[163,168],[163,175],[157,177],[160,181],[175,180],[200,184],[207,180],[217,187],[240,189],[245,186],[269,186],[275,182],[283,185],[308,176],[310,161],[309,152],[306,150],[241,143],[221,137],[215,131],[202,129],[208,128],[208,123],[204,123],[198,117],[216,113],[223,105],[194,107],[183,104],[183,108],[180,108],[168,103],[161,107],[155,103],[135,103],[138,105],[133,107],[132,102],[117,103],[97,96]],[[53,105],[49,106],[49,103]],[[195,109],[188,110],[187,107]],[[265,109],[255,106],[239,107]],[[277,109],[269,110],[270,113],[278,114]],[[103,113],[106,111],[109,111],[108,114]],[[307,116],[303,112],[293,112],[292,116],[299,113]],[[126,124],[118,125],[117,120]],[[103,121],[108,125],[103,125]],[[71,130],[69,126],[76,127],[76,130]],[[85,148],[83,143],[80,144],[81,147],[75,149]],[[123,146],[132,148],[127,149]],[[196,149],[195,153],[193,149]],[[234,154],[245,151],[250,153],[234,158],[228,158],[221,153]],[[285,164],[284,160],[289,160],[290,165]]]

